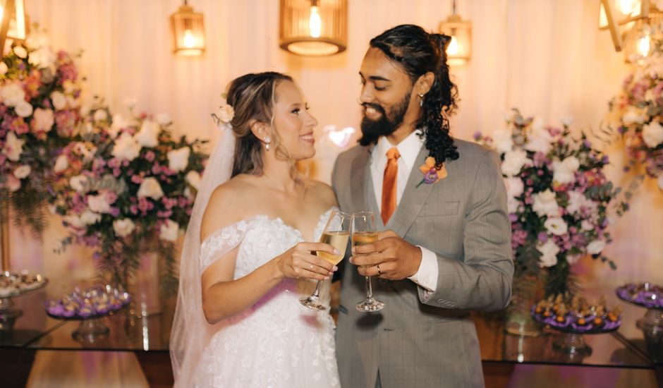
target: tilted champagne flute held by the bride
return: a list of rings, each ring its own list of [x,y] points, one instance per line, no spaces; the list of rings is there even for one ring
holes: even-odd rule
[[[331,253],[317,251],[316,255],[333,265],[339,264],[346,254],[348,247],[348,239],[350,238],[350,221],[351,215],[333,210],[327,220],[327,225],[324,226],[322,236],[320,236],[321,243],[327,243],[337,250],[339,255],[332,255]],[[322,280],[318,280],[315,286],[315,291],[308,298],[301,298],[299,301],[308,308],[313,310],[324,311],[327,306],[320,303],[320,284]]]

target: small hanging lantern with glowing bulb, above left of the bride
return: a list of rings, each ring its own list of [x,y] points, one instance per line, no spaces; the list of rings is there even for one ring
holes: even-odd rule
[[[187,0],[171,15],[173,52],[177,55],[201,55],[205,51],[205,25],[202,13],[193,12]]]

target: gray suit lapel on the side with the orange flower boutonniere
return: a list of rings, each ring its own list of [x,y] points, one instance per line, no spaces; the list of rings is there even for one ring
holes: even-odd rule
[[[403,192],[403,198],[401,198],[399,206],[396,207],[396,212],[394,212],[394,215],[387,222],[387,229],[393,230],[401,237],[408,233],[410,226],[417,219],[426,198],[430,195],[434,186],[422,183],[419,187],[416,187],[423,178],[421,171],[419,171],[419,166],[424,164],[427,156],[428,150],[426,150],[426,147],[421,147],[412,171],[410,171],[408,183]]]

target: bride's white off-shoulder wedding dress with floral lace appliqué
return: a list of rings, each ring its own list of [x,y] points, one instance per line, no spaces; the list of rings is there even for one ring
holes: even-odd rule
[[[331,210],[320,216],[315,241]],[[214,232],[200,247],[200,271],[238,247],[234,279],[303,241],[280,218],[257,215]],[[255,305],[219,325],[195,372],[196,387],[339,387],[334,321],[305,308],[315,281],[284,279]],[[320,297],[329,306],[329,280]]]

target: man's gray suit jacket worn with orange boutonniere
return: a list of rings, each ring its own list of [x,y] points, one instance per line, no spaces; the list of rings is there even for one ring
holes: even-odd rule
[[[385,303],[360,313],[365,281],[346,262],[336,330],[336,357],[344,388],[481,387],[476,329],[468,310],[499,310],[509,303],[513,260],[506,188],[499,157],[480,145],[454,139],[460,158],[448,176],[422,183],[422,147],[396,212],[379,217],[370,173],[370,147],[353,147],[336,159],[332,186],[343,212],[372,210],[379,230],[391,229],[437,255],[437,289],[413,281],[373,279]]]

